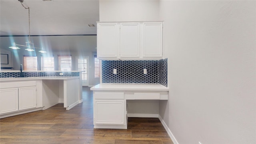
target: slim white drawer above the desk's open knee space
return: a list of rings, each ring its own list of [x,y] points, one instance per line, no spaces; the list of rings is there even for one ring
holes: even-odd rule
[[[160,100],[159,92],[134,92],[134,100]]]

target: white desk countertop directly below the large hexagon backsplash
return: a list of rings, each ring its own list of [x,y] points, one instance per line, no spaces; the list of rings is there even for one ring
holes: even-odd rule
[[[161,84],[109,84],[102,83],[90,88],[90,90],[134,90],[134,91],[169,91],[169,88]]]

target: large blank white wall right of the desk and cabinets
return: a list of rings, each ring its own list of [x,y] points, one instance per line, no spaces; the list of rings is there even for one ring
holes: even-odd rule
[[[256,1],[160,1],[179,144],[256,143]]]

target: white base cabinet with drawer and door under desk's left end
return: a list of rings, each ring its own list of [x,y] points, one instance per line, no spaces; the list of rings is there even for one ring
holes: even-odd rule
[[[94,128],[127,129],[123,92],[94,92]]]

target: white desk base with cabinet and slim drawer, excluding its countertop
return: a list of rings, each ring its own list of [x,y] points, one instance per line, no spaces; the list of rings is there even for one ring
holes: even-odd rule
[[[101,86],[104,88],[103,85]],[[93,91],[94,128],[127,129],[128,106],[126,100],[168,100],[167,90],[104,89]]]

